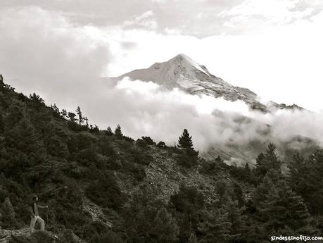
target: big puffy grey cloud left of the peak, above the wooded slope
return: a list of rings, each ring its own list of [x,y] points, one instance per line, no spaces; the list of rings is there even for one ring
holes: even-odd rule
[[[108,65],[108,44],[94,27],[75,27],[38,7],[5,8],[0,15],[0,67],[13,87],[67,105],[95,87]]]

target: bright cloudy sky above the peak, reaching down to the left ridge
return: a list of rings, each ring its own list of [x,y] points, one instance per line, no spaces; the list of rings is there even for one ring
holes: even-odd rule
[[[0,73],[72,106],[179,53],[265,100],[323,110],[322,0],[1,0]],[[85,102],[84,101],[84,102]]]

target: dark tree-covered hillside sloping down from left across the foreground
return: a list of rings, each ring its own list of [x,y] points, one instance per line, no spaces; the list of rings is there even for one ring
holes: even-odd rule
[[[189,131],[167,147],[99,130],[0,83],[0,232],[27,228],[37,194],[47,234],[10,242],[270,242],[323,235],[323,151],[295,154],[281,173],[274,144],[256,165],[198,157]],[[112,115],[111,115],[112,116]],[[146,135],[144,135],[146,136]],[[1,236],[1,233],[0,233]],[[1,242],[1,239],[0,239]]]

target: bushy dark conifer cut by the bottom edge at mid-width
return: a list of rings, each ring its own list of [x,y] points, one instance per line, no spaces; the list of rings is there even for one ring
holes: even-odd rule
[[[151,235],[156,239],[154,242],[175,242],[178,234],[179,228],[175,218],[167,212],[166,208],[160,208],[153,220],[151,228]]]

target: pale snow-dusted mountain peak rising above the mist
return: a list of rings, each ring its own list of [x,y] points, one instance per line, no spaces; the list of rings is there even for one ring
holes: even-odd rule
[[[167,89],[178,87],[190,94],[222,96],[229,101],[242,100],[254,109],[262,111],[267,109],[258,101],[257,94],[251,90],[230,85],[184,54],[179,54],[163,63],[154,63],[146,69],[133,70],[116,78],[122,79],[123,77],[129,77],[131,80],[152,81]]]

